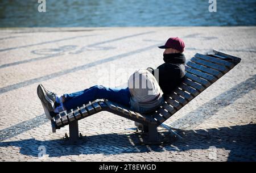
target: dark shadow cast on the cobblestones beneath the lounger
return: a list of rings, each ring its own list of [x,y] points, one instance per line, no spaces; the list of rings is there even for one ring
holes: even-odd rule
[[[159,135],[164,140],[161,145],[139,145],[146,135],[130,134],[100,134],[89,136],[88,141],[77,145],[63,145],[63,139],[39,141],[28,140],[1,142],[0,147],[20,147],[20,154],[38,157],[39,146],[46,148],[48,157],[80,154],[124,154],[146,153],[150,151],[188,151],[209,150],[214,147],[218,160],[218,149],[229,152],[228,161],[256,161],[256,124],[226,126],[221,128],[185,130],[179,132],[184,140],[171,136],[164,129],[159,129]],[[205,156],[203,156],[205,157]]]

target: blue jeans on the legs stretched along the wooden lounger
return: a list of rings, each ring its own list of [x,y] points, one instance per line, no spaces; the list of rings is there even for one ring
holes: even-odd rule
[[[82,106],[96,99],[108,99],[110,101],[130,107],[130,91],[129,88],[109,88],[102,85],[92,86],[83,91],[64,94],[65,109],[73,109],[77,106]]]

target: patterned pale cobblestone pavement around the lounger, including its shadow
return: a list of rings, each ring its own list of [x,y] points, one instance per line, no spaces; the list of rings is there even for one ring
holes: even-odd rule
[[[88,141],[63,145],[36,95],[125,86],[136,69],[163,63],[157,45],[183,38],[185,56],[218,49],[242,61],[159,128],[162,145],[139,145],[134,122],[101,112],[79,121]],[[7,28],[0,30],[1,161],[256,161],[256,27]],[[46,149],[44,157],[38,157]]]

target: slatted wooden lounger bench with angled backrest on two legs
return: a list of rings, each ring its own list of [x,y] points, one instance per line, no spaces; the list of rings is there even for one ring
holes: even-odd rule
[[[101,111],[112,112],[143,125],[143,131],[148,132],[150,141],[157,141],[157,127],[168,118],[191,102],[193,98],[221,78],[234,66],[240,63],[241,58],[213,50],[211,54],[195,54],[185,66],[185,78],[170,94],[164,94],[164,104],[155,112],[141,114],[132,109],[100,99],[80,107],[64,111],[51,120],[52,132],[69,125],[69,140],[79,140],[78,121]]]

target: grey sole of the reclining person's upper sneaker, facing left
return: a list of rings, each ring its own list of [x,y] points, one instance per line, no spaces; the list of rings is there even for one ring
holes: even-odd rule
[[[38,97],[41,100],[43,107],[46,107],[46,109],[48,110],[48,112],[53,112],[53,105],[54,103],[52,102],[51,99],[48,98],[48,96],[46,95],[46,92],[44,92],[42,85],[38,86],[37,89],[38,92]]]

